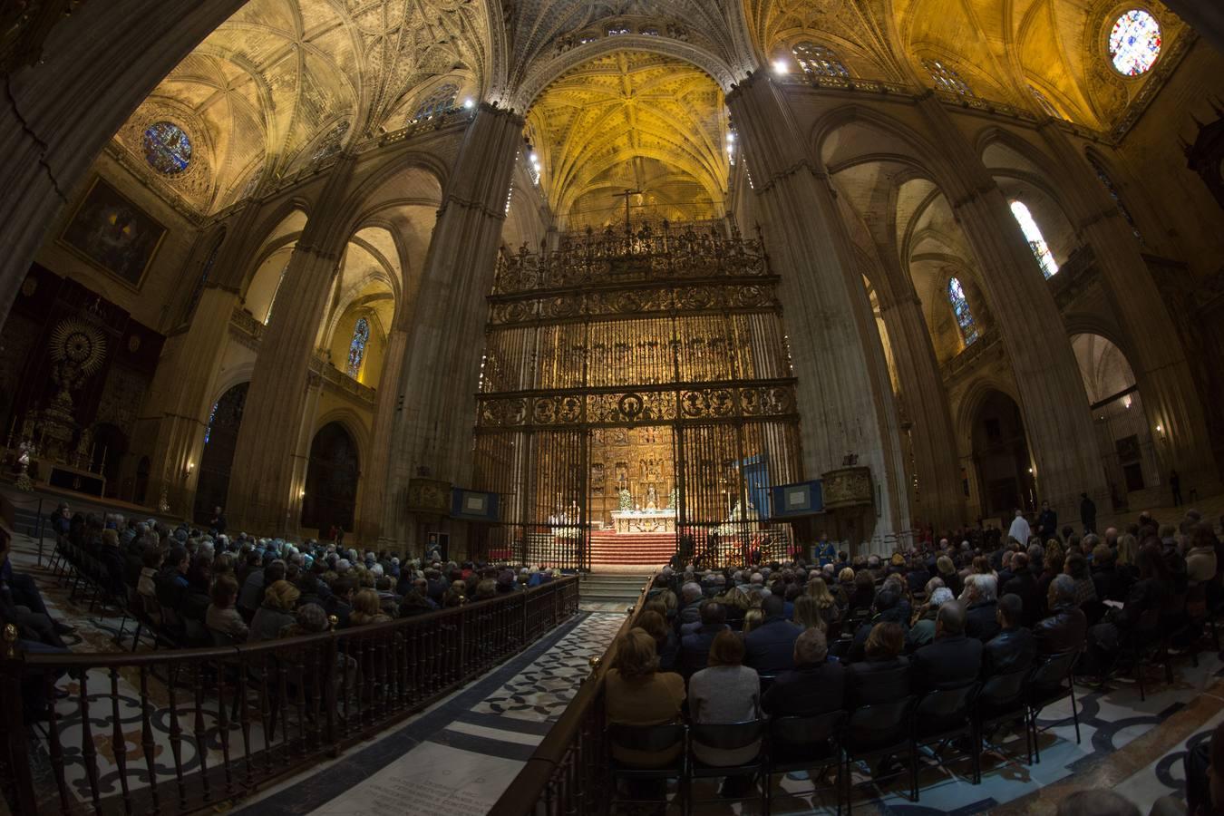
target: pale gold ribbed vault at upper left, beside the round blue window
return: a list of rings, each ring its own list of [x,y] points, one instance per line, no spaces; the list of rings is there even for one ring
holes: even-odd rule
[[[404,127],[431,89],[480,95],[488,39],[481,0],[251,0],[158,84],[118,139],[143,157],[149,125],[182,127],[191,161],[159,181],[211,212]]]

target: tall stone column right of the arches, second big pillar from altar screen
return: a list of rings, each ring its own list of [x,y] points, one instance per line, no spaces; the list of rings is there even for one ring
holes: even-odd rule
[[[1016,374],[1024,431],[1037,460],[1038,502],[1077,517],[1080,493],[1108,503],[1080,367],[1049,286],[1002,191],[934,93],[918,102],[945,161],[945,190],[973,248],[1000,338]]]

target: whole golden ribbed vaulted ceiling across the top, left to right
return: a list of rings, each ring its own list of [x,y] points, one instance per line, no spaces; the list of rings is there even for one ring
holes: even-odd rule
[[[1185,26],[1159,2],[1143,7],[1168,53]],[[979,97],[1033,108],[1036,89],[1062,116],[1104,130],[1149,78],[1108,62],[1122,9],[1116,0],[250,0],[154,89],[116,142],[144,179],[211,213],[403,127],[447,88],[459,100],[530,104],[547,201],[572,223],[602,223],[599,210],[627,187],[645,190],[639,203],[656,208],[698,201],[717,213],[727,179],[718,84],[797,43],[831,48],[854,76],[907,84],[934,84],[924,60],[940,60]],[[144,131],[158,121],[191,137],[179,174],[143,161]]]

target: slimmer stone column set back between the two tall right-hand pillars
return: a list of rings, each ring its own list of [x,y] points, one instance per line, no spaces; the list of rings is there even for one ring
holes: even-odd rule
[[[885,273],[884,276],[894,275]],[[947,391],[913,281],[906,274],[895,278],[885,286],[876,286],[875,291],[901,394],[913,423],[909,439],[918,476],[918,499],[909,511],[916,521],[931,524],[935,530],[957,527],[966,521],[965,491]]]

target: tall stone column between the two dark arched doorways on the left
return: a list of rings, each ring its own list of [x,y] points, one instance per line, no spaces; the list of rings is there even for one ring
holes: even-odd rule
[[[289,258],[251,376],[230,472],[228,517],[234,529],[252,535],[285,535],[297,527],[290,517],[301,489],[294,454],[300,448],[319,322],[348,240],[338,231],[341,219],[333,208],[343,201],[353,165],[351,155],[341,155],[329,170]]]

